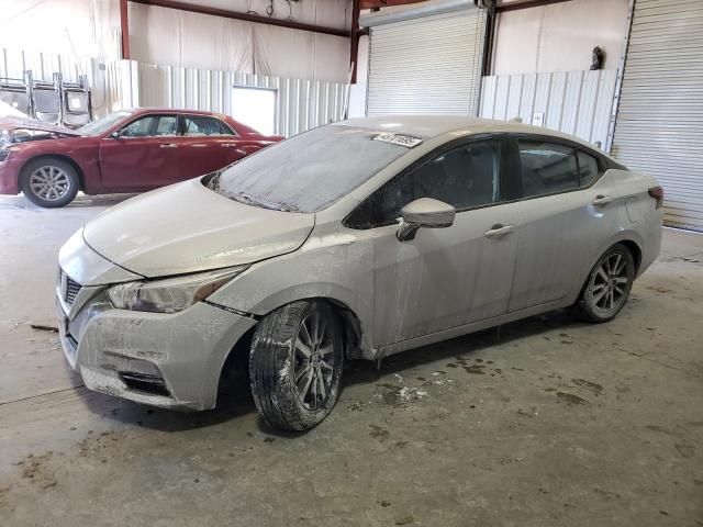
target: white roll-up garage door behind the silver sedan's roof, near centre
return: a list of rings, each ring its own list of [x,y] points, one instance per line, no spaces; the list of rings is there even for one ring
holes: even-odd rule
[[[367,113],[477,115],[486,10],[370,29]]]

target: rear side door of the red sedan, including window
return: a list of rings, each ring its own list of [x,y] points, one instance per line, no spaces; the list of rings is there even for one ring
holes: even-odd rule
[[[186,114],[181,120],[181,179],[219,170],[246,156],[239,136],[220,119]]]

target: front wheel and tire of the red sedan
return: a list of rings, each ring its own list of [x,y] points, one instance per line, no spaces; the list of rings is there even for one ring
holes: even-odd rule
[[[20,184],[24,195],[44,208],[64,206],[78,193],[78,175],[68,162],[57,158],[30,161],[23,169]]]

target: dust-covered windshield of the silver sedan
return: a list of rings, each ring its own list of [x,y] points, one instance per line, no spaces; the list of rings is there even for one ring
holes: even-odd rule
[[[373,141],[368,128],[327,125],[291,137],[225,168],[208,187],[243,203],[288,212],[316,212],[408,152]]]

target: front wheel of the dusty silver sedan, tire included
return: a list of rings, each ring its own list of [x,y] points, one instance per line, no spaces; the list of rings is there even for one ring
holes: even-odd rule
[[[344,346],[339,319],[323,301],[284,305],[259,322],[249,377],[256,408],[282,430],[308,430],[337,401]]]

